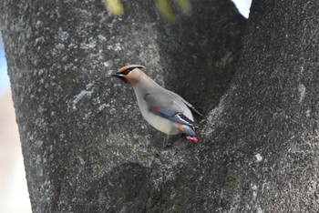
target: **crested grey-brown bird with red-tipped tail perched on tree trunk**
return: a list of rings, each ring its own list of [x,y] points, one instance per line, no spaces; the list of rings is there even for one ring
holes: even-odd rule
[[[123,66],[111,76],[129,83],[138,99],[139,110],[150,126],[168,135],[164,147],[168,146],[170,135],[185,134],[186,139],[198,142],[192,112],[201,116],[184,98],[158,85],[142,69],[145,66]]]

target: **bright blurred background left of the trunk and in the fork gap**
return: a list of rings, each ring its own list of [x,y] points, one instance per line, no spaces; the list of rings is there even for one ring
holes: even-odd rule
[[[248,17],[252,0],[232,0],[243,16]],[[5,50],[0,34],[0,212],[30,213],[15,109],[7,76]]]

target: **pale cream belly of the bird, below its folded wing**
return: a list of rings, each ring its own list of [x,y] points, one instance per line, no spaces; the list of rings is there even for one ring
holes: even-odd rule
[[[149,115],[143,115],[143,117],[152,127],[167,135],[177,135],[181,133],[177,123],[172,122],[164,117],[159,117],[152,113],[149,113]]]

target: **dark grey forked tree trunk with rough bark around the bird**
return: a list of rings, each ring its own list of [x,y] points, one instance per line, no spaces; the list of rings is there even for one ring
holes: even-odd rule
[[[230,1],[192,1],[177,24],[123,4],[1,3],[33,211],[316,211],[319,3],[255,0],[247,25]],[[127,64],[206,114],[198,144],[161,148],[109,76]]]

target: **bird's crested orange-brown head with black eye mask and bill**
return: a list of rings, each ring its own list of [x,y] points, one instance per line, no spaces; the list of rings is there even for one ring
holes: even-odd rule
[[[130,83],[134,85],[135,83],[139,82],[139,77],[143,74],[141,68],[145,68],[145,66],[140,65],[129,65],[123,66],[118,70],[118,72],[113,73],[112,76],[116,76],[125,83]]]

